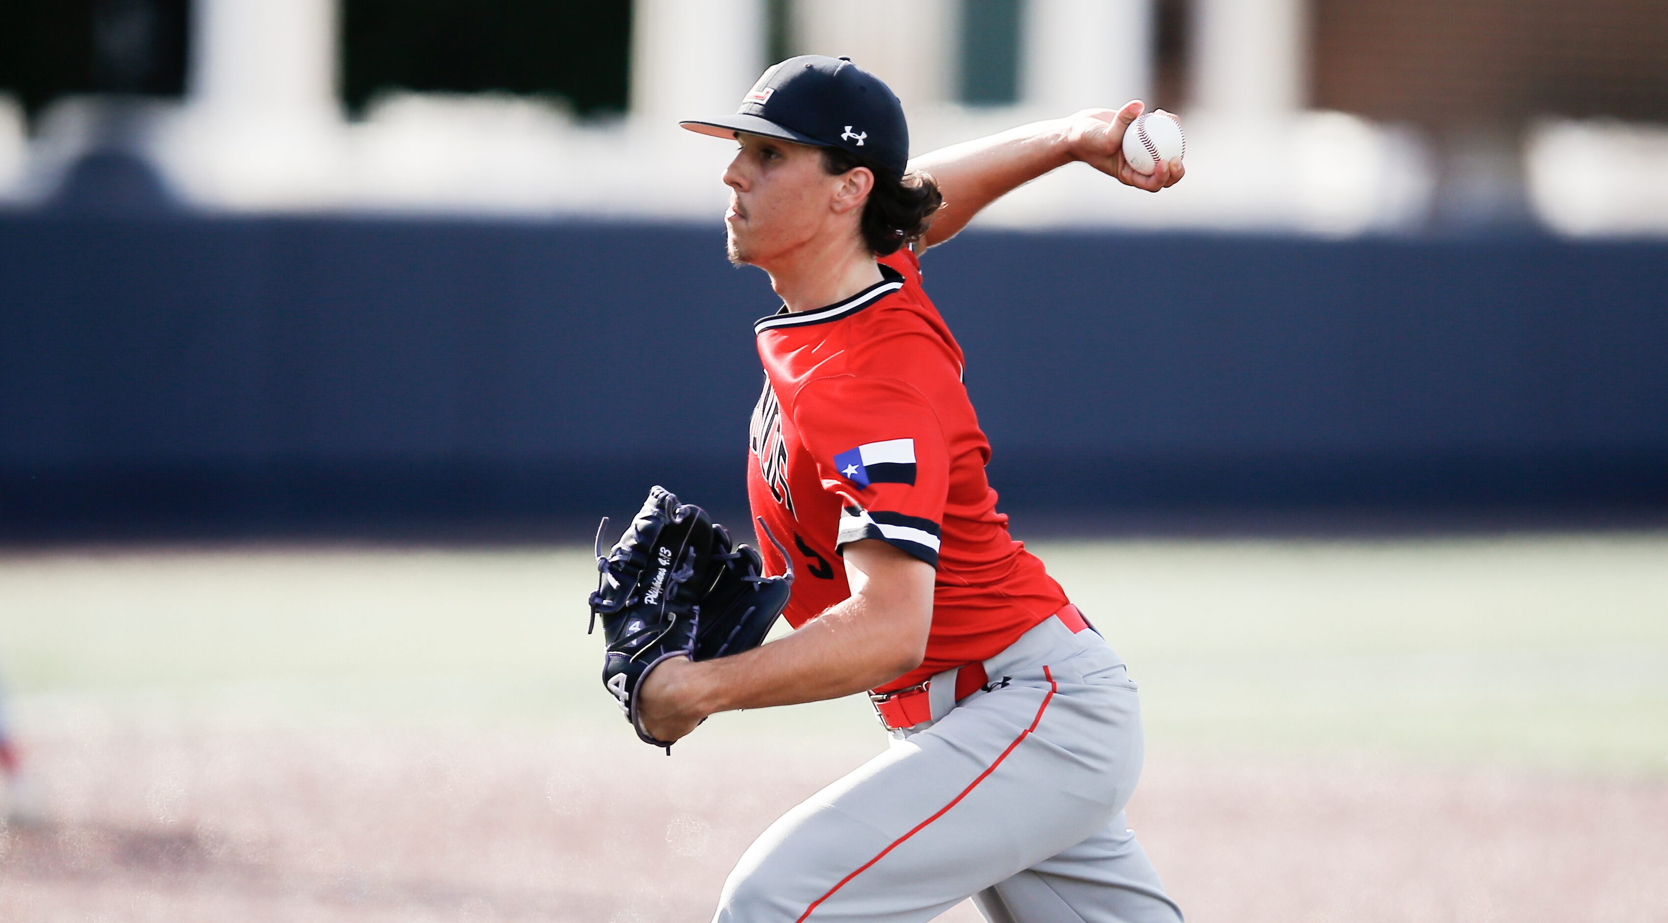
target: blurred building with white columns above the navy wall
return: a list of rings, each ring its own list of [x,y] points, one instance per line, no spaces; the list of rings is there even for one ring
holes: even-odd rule
[[[13,207],[75,199],[72,179],[143,187],[122,179],[115,150],[148,167],[158,194],[208,210],[706,217],[722,192],[691,147],[701,142],[674,120],[731,110],[767,62],[817,52],[889,80],[917,150],[1131,97],[1186,117],[1193,172],[1174,195],[1128,197],[1068,170],[994,209],[1001,225],[1668,234],[1660,3],[8,0],[0,10],[0,197]],[[90,154],[105,157],[87,164]]]

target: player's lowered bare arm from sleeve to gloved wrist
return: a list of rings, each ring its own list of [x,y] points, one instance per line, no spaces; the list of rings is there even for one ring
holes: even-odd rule
[[[849,599],[762,648],[661,664],[639,693],[644,729],[676,741],[709,714],[837,699],[919,666],[932,624],[932,566],[879,539],[844,551]]]

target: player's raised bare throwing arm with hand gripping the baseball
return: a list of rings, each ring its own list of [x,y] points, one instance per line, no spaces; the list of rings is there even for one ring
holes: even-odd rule
[[[1181,159],[1159,160],[1153,174],[1138,172],[1124,159],[1124,130],[1144,108],[1141,100],[1123,108],[1084,108],[912,159],[909,169],[931,174],[944,194],[944,207],[921,247],[949,240],[991,202],[1074,160],[1146,192],[1176,185],[1186,174]]]

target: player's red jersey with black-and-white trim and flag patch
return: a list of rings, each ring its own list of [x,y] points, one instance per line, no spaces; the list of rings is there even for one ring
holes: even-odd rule
[[[754,324],[766,382],[747,497],[794,556],[794,628],[851,596],[847,542],[881,539],[937,569],[926,659],[886,693],[996,656],[1066,594],[996,512],[991,442],[962,386],[961,347],[921,290],[919,260],[899,250],[881,274],[837,304]],[[781,574],[777,551],[761,551]]]

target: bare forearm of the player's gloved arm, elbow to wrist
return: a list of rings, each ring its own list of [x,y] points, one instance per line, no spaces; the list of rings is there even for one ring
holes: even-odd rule
[[[884,613],[854,596],[799,631],[746,651],[704,661],[702,711],[736,711],[837,699],[889,683],[921,663],[917,644]]]

